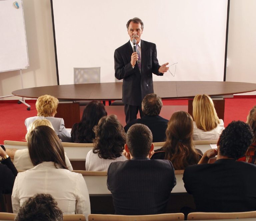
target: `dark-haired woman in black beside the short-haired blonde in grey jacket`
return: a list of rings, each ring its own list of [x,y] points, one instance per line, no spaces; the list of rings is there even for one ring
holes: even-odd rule
[[[105,106],[99,101],[91,101],[84,109],[81,121],[72,126],[71,142],[93,143],[95,138],[93,127],[104,116],[107,116]]]

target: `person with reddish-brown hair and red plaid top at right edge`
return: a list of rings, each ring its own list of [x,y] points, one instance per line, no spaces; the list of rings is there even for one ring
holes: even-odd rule
[[[249,149],[247,150],[246,154],[244,157],[241,157],[237,161],[244,161],[248,162],[251,164],[256,164],[256,106],[254,106],[248,116],[247,116],[247,124],[250,125],[252,128],[253,132],[253,137],[252,137],[252,144],[250,145]]]

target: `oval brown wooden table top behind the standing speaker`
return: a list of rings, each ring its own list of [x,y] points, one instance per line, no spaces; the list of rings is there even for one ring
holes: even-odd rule
[[[255,83],[228,81],[154,81],[154,92],[163,99],[193,98],[197,94],[230,95],[256,90]],[[121,100],[122,82],[67,84],[15,90],[19,97],[49,94],[60,100]]]

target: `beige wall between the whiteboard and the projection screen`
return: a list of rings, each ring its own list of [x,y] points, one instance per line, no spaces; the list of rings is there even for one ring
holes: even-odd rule
[[[22,70],[24,88],[56,85],[50,0],[23,0],[23,8],[30,65]],[[0,73],[0,96],[21,88],[19,70]]]

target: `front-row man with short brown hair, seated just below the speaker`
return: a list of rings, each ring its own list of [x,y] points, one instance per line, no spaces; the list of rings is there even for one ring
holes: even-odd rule
[[[168,120],[159,116],[163,106],[161,97],[148,94],[144,97],[141,106],[144,116],[128,123],[124,131],[127,132],[134,124],[144,124],[151,130],[153,142],[164,142]]]

